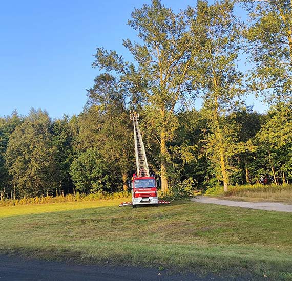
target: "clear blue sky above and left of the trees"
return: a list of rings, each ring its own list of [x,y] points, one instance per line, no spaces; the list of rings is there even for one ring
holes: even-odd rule
[[[191,0],[164,0],[175,11]],[[78,114],[98,71],[96,47],[127,57],[122,39],[135,38],[127,26],[134,7],[148,0],[9,0],[0,9],[0,116],[31,107],[50,116]],[[263,107],[252,98],[255,109]]]

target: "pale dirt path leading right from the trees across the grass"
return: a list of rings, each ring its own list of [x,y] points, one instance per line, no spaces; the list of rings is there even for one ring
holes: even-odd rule
[[[272,202],[244,202],[244,201],[231,201],[231,200],[221,200],[213,197],[207,196],[196,196],[191,199],[194,202],[199,203],[210,203],[217,205],[225,205],[232,207],[242,207],[250,209],[259,209],[267,211],[279,211],[279,212],[292,212],[292,205],[282,204],[282,203],[272,203]]]

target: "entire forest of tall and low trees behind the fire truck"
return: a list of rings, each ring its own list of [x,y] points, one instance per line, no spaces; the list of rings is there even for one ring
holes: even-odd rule
[[[1,200],[128,189],[130,110],[164,193],[292,183],[292,2],[198,0],[135,8],[131,60],[96,48],[98,75],[78,115],[0,118]],[[242,20],[235,10],[244,11]],[[268,107],[254,111],[258,98]]]

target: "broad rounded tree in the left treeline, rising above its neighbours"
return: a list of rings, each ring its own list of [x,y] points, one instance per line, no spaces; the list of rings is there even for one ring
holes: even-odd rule
[[[48,113],[32,109],[11,134],[5,154],[18,196],[52,194],[57,184],[55,154]]]

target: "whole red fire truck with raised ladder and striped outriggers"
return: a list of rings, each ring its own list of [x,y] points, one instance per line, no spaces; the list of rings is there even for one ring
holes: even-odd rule
[[[156,179],[154,175],[150,176],[145,148],[139,129],[139,114],[135,111],[130,111],[130,120],[133,120],[134,126],[137,173],[133,175],[131,181],[132,202],[122,202],[120,206],[132,205],[135,208],[137,205],[150,204],[158,206],[158,204],[170,204],[168,201],[158,200]]]

